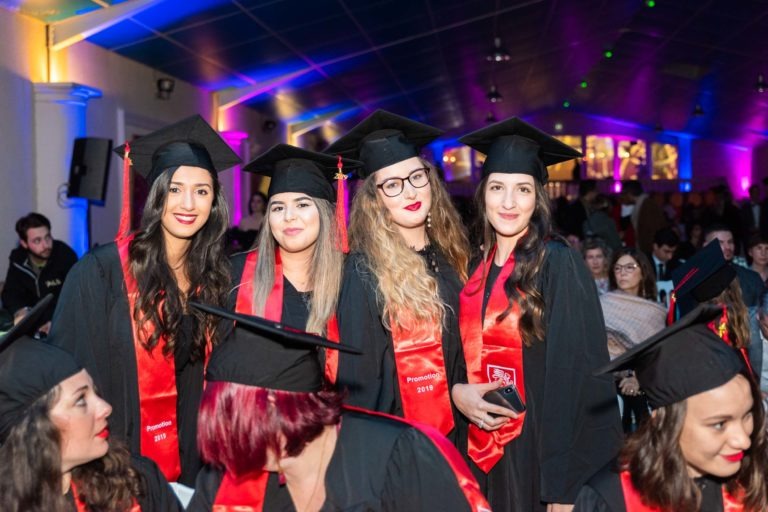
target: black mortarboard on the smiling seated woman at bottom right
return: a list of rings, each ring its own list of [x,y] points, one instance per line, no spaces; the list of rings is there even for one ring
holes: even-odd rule
[[[720,307],[700,305],[595,375],[634,369],[653,409],[722,386],[745,368],[737,352],[707,327],[721,313]]]

